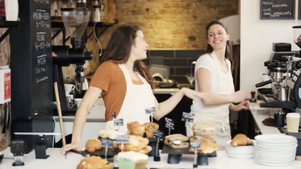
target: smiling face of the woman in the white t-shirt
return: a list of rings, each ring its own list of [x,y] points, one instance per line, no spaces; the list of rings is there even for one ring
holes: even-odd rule
[[[212,46],[213,50],[226,48],[227,41],[229,41],[229,34],[221,25],[210,26],[207,31],[207,43]]]

